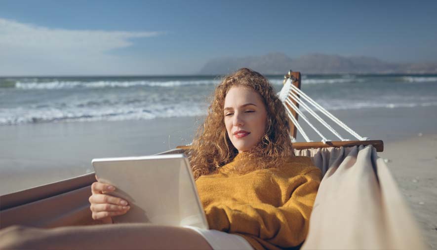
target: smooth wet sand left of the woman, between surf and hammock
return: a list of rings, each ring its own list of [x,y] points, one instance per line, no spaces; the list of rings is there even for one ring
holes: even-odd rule
[[[0,195],[93,172],[93,158],[151,155],[191,142],[196,117],[0,126]]]

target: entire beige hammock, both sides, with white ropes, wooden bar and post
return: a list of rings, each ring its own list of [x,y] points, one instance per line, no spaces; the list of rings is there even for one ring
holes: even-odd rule
[[[383,150],[383,142],[359,136],[302,92],[300,84],[301,74],[290,71],[278,96],[292,121],[290,139],[295,155],[311,157],[323,174],[302,249],[426,249],[396,182],[376,153]],[[358,141],[343,138],[309,105]],[[320,142],[312,142],[297,122],[300,115],[310,123],[299,106],[340,141],[328,140],[309,124],[321,137]],[[297,131],[305,143],[295,142]],[[188,147],[160,154],[181,153]],[[14,224],[43,228],[95,224],[88,203],[94,181],[94,173],[90,173],[1,196],[0,229]]]

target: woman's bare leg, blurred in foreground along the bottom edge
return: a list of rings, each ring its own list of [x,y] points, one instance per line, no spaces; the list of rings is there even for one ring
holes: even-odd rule
[[[0,249],[207,249],[189,228],[150,224],[69,226],[40,229],[13,226],[0,231]]]

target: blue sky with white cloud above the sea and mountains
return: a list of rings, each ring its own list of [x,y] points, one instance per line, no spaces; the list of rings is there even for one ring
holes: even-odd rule
[[[0,0],[0,76],[196,74],[273,52],[437,62],[436,13],[436,0]]]

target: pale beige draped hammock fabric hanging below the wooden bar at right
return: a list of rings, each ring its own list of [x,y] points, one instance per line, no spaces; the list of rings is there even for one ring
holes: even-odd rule
[[[302,249],[426,249],[395,180],[372,146],[295,150],[322,170]]]

